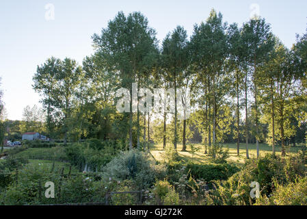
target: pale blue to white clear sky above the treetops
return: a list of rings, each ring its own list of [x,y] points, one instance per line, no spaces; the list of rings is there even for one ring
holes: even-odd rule
[[[306,33],[306,0],[0,1],[0,89],[7,118],[21,120],[24,107],[41,106],[39,94],[32,89],[38,65],[51,56],[82,64],[93,53],[91,36],[107,27],[119,11],[142,12],[162,42],[177,25],[191,36],[193,25],[206,21],[213,8],[224,21],[239,25],[259,14],[289,48],[296,34]]]

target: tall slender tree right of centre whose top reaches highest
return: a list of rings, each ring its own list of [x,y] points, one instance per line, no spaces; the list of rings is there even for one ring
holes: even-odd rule
[[[222,100],[225,92],[225,75],[223,73],[225,60],[228,57],[228,43],[226,36],[226,23],[222,21],[222,14],[217,14],[212,10],[206,23],[194,27],[191,38],[193,48],[193,60],[198,60],[202,70],[198,74],[198,79],[206,83],[209,92],[209,103],[212,110],[212,142],[213,157],[216,154],[217,146],[217,112],[219,101]],[[209,110],[209,115],[211,114]],[[210,118],[211,116],[209,116]],[[210,125],[209,125],[210,128]],[[209,131],[209,136],[211,136]]]

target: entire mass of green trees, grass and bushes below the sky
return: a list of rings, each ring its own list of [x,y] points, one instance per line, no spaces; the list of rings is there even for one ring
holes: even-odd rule
[[[43,108],[1,117],[0,142],[49,139],[2,145],[0,204],[306,204],[307,35],[288,49],[265,18],[239,27],[212,10],[160,45],[148,24],[118,12],[81,65],[38,66]]]

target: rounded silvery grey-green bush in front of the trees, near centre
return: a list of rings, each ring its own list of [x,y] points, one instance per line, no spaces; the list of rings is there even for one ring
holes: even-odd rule
[[[103,168],[105,179],[133,179],[139,189],[149,188],[155,178],[163,179],[165,172],[148,153],[135,150],[121,152]]]

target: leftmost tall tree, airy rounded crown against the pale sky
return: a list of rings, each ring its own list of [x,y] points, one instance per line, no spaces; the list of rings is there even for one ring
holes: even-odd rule
[[[67,142],[68,120],[82,74],[81,66],[66,57],[63,61],[55,58],[47,60],[34,75],[34,89],[44,96],[42,102],[45,103],[47,114],[50,115],[51,109],[56,110],[57,117],[63,120],[64,144]]]

